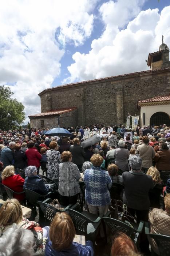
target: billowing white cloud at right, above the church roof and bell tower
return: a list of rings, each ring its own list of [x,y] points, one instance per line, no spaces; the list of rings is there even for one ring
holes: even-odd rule
[[[70,76],[63,82],[148,69],[145,59],[148,53],[159,50],[162,35],[165,43],[170,41],[170,6],[159,14],[158,9],[140,11],[139,3],[134,0],[129,5],[129,1],[118,0],[100,7],[105,30],[92,41],[88,54],[73,54],[74,63],[68,67]]]

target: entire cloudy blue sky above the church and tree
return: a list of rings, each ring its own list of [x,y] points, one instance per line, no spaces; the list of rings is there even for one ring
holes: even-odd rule
[[[0,6],[0,85],[40,113],[52,86],[147,70],[170,46],[169,0],[5,0]],[[62,107],[62,106],[61,106]]]

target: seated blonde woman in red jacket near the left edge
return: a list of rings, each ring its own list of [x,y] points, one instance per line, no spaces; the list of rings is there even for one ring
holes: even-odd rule
[[[8,165],[2,172],[2,184],[11,188],[14,192],[23,192],[24,179],[19,175],[15,174],[15,169],[13,165]],[[25,199],[25,193],[23,194],[13,194],[13,197],[19,201]]]

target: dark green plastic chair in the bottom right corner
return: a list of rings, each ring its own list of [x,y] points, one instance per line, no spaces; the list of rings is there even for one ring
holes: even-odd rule
[[[150,234],[148,222],[145,222],[145,234],[147,235],[149,242],[150,242],[149,238],[154,239],[155,243],[158,246],[161,256],[169,256],[170,255],[170,236]],[[152,247],[152,243],[150,243],[150,245],[151,245],[152,251],[154,251],[154,248]]]

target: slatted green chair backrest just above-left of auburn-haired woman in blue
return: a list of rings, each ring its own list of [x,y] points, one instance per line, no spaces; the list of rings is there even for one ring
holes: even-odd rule
[[[39,204],[45,218],[48,221],[52,221],[54,216],[56,215],[56,213],[61,212],[60,210],[56,209],[51,204],[47,204],[47,203],[43,203],[43,202],[37,202],[37,204]]]

